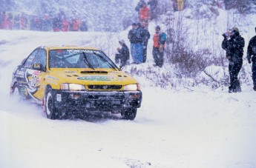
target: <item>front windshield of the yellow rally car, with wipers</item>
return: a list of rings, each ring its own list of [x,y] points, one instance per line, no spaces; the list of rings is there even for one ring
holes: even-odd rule
[[[108,56],[99,50],[65,49],[50,50],[50,68],[114,68],[118,69]]]

